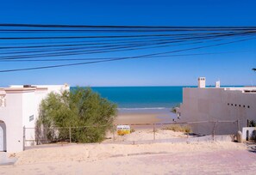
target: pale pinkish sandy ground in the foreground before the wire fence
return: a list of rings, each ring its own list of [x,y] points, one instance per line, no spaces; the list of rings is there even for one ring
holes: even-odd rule
[[[254,174],[256,155],[242,143],[78,144],[15,155],[0,174]]]

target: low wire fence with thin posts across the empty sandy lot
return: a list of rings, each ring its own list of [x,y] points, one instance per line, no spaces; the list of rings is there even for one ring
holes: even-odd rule
[[[124,125],[124,124],[122,124]],[[112,126],[91,125],[81,127],[24,128],[24,148],[49,143],[147,143],[147,142],[187,142],[208,136],[235,136],[240,130],[239,120],[200,121],[165,124],[127,124],[129,133],[120,135],[117,124]],[[107,132],[105,132],[107,130]],[[202,137],[206,138],[206,137]]]

